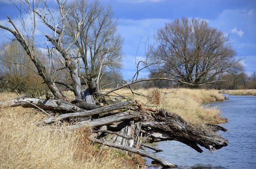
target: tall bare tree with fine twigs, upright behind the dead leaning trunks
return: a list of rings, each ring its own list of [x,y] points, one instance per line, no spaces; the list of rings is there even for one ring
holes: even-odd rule
[[[75,38],[74,26],[83,18],[80,37],[75,42],[77,58],[81,59],[80,77],[89,91],[98,95],[99,81],[106,69],[121,66],[122,38],[116,35],[117,21],[113,19],[112,9],[103,7],[99,1],[75,1],[68,8],[73,9],[68,15],[69,39]]]

